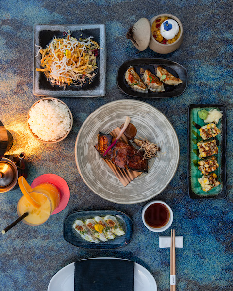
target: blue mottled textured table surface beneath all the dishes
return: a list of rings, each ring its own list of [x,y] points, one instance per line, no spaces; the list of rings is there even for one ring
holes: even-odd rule
[[[138,52],[125,37],[129,26],[141,17],[149,20],[171,13],[183,23],[181,47],[168,55],[149,48]],[[27,129],[33,96],[33,25],[35,23],[104,23],[107,39],[107,87],[105,97],[61,98],[73,117],[71,133],[63,142],[46,145],[33,139]],[[176,250],[177,290],[233,290],[233,4],[227,0],[1,0],[0,1],[0,120],[12,133],[8,153],[25,152],[28,181],[45,173],[58,174],[70,187],[70,201],[61,213],[41,226],[19,223],[0,236],[0,290],[45,291],[52,276],[67,264],[91,257],[131,259],[154,276],[158,290],[168,291],[170,251],[159,249],[159,234],[142,223],[146,203],[117,205],[103,200],[84,184],[74,158],[75,139],[87,116],[101,105],[126,99],[117,87],[118,67],[137,57],[167,58],[184,65],[189,73],[187,90],[171,99],[143,99],[173,124],[180,140],[180,163],[175,177],[156,198],[174,212],[172,228],[183,235],[184,247]],[[187,194],[187,109],[191,103],[227,106],[227,183],[224,200],[191,200]],[[19,189],[0,194],[0,228],[17,218]],[[62,226],[74,210],[121,210],[134,223],[130,244],[113,251],[83,250],[63,239]],[[168,229],[162,235],[169,235]]]

